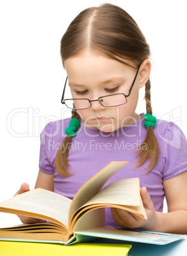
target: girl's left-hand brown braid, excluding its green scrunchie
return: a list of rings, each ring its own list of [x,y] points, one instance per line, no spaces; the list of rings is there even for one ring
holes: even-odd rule
[[[71,111],[71,118],[80,119],[80,115],[76,110]],[[69,153],[69,144],[71,143],[71,136],[67,135],[62,143],[59,146],[59,150],[57,151],[57,155],[55,157],[55,169],[59,172],[61,176],[72,176],[71,173],[67,172],[67,166],[69,166],[67,162],[67,156]],[[64,150],[66,148],[66,150]]]

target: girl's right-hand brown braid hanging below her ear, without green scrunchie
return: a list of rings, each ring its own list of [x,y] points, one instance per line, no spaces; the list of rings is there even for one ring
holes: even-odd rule
[[[148,80],[145,86],[145,97],[146,100],[146,112],[152,115],[152,107],[151,107],[151,82]],[[145,147],[146,145],[146,147]],[[158,153],[159,153],[159,145],[158,141],[155,136],[155,132],[153,131],[153,127],[148,127],[146,138],[142,142],[140,146],[138,146],[136,149],[139,148],[139,152],[137,155],[139,155],[139,161],[137,162],[137,166],[141,166],[146,159],[149,159],[149,166],[146,173],[149,173],[153,166],[156,164],[158,160]]]

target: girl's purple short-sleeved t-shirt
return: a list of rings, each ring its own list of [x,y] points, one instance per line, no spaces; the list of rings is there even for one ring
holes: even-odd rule
[[[62,177],[55,170],[55,156],[67,135],[64,130],[68,127],[69,120],[70,118],[66,118],[50,122],[41,132],[39,169],[44,173],[54,174],[54,192],[73,199],[81,186],[109,162],[125,160],[128,164],[114,174],[106,185],[123,178],[139,177],[141,187],[145,186],[151,196],[155,211],[163,210],[163,180],[187,170],[187,142],[176,124],[157,120],[154,131],[160,154],[157,164],[147,174],[144,168],[149,161],[135,167],[138,158],[137,150],[134,150],[146,137],[144,114],[134,124],[114,132],[101,132],[80,124],[76,137],[72,138],[69,146],[67,159],[70,164],[68,169],[74,175]],[[116,225],[109,208],[106,209],[106,225]]]

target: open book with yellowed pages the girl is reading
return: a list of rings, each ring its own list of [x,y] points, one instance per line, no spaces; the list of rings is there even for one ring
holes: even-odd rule
[[[0,203],[0,212],[47,221],[0,229],[0,240],[53,241],[64,245],[85,241],[91,239],[92,230],[106,229],[105,207],[124,209],[146,218],[139,178],[114,181],[102,189],[106,181],[125,164],[127,162],[124,161],[110,162],[78,190],[73,200],[36,188]],[[85,230],[88,230],[88,236]],[[82,235],[81,231],[84,231]],[[120,231],[116,229],[116,232]],[[93,234],[95,237],[99,236],[95,232]]]

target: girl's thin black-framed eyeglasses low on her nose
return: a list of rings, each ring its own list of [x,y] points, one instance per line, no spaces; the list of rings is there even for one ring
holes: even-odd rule
[[[137,78],[137,74],[138,74],[138,72],[139,72],[139,68],[140,68],[140,67],[141,67],[141,63],[139,64],[139,66],[138,66],[138,68],[137,68],[137,72],[136,72],[136,74],[135,74],[135,78],[134,78],[134,80],[133,80],[133,82],[132,82],[132,85],[130,86],[130,89],[128,90],[128,94],[120,93],[120,94],[122,94],[122,95],[125,97],[125,99],[126,99],[126,102],[125,102],[125,103],[127,103],[127,97],[130,96],[130,92],[132,91],[132,88],[133,88],[133,86],[134,86],[134,83],[135,83],[135,80],[136,80],[136,78]],[[65,82],[65,84],[64,84],[64,89],[63,89],[63,92],[62,92],[62,98],[61,98],[61,103],[62,103],[62,104],[66,104],[66,103],[64,102],[64,101],[66,101],[66,100],[68,100],[68,101],[69,101],[69,100],[74,101],[74,100],[76,100],[76,99],[87,99],[87,98],[64,99],[64,94],[65,94],[65,89],[66,89],[66,83],[67,83],[67,77],[66,77],[66,82]],[[89,103],[90,103],[90,106],[89,106],[88,108],[91,108],[93,101],[99,101],[100,98],[109,97],[109,96],[115,96],[115,95],[119,95],[119,94],[112,94],[112,95],[101,96],[101,97],[99,97],[98,99],[87,99],[87,100],[89,101]],[[99,101],[99,103],[100,103],[102,106],[105,106],[105,105],[102,104],[100,101]],[[121,103],[121,104],[114,105],[114,106],[120,106],[120,105],[123,105],[123,104],[125,104],[125,103]],[[66,105],[66,106],[67,106],[67,105]],[[107,107],[107,108],[110,108],[110,107],[113,107],[113,106],[106,106],[106,107]],[[67,106],[67,108],[69,108],[69,107]],[[71,109],[73,109],[73,110],[86,110],[87,108],[71,108]]]

